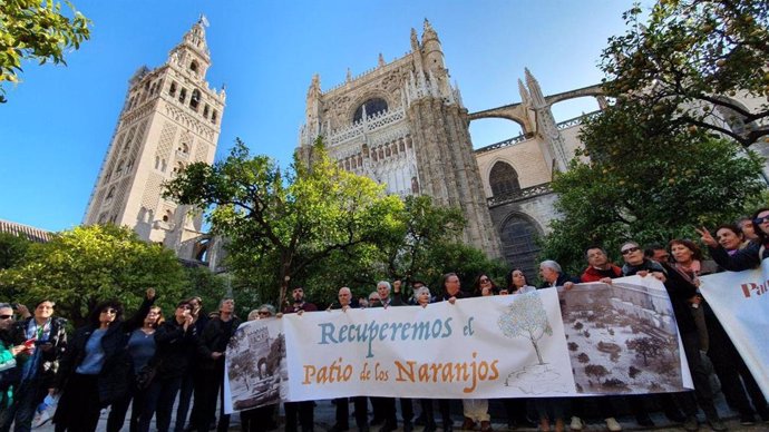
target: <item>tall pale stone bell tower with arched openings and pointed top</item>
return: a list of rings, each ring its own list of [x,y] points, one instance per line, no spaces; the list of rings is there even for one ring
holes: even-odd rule
[[[188,164],[212,164],[216,154],[226,96],[206,81],[206,26],[201,17],[164,65],[142,67],[128,81],[84,219],[129,226],[193,261],[203,261],[213,239],[201,233],[199,213],[163,199],[162,184]]]

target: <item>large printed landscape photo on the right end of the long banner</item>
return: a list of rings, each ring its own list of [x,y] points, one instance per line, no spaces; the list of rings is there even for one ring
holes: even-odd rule
[[[658,393],[684,389],[673,307],[653,277],[558,288],[580,393]]]

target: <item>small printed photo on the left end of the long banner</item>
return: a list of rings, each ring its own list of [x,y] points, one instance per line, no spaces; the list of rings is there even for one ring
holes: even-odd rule
[[[241,325],[230,340],[225,359],[233,411],[279,403],[285,395],[289,371],[280,320]]]

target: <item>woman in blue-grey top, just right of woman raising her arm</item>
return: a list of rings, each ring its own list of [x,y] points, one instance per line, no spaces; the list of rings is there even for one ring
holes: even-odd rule
[[[147,297],[154,298],[154,292],[152,297],[148,292]],[[163,311],[157,306],[152,306],[146,314],[143,315],[140,312],[142,310],[125,324],[126,333],[130,332],[127,350],[134,365],[129,376],[132,386],[126,396],[115,402],[109,410],[109,419],[107,420],[108,432],[118,432],[123,428],[132,400],[134,401],[134,406],[130,411],[128,424],[129,431],[136,432],[139,424],[139,415],[144,409],[146,389],[137,387],[136,376],[139,375],[153,355],[155,355],[155,331],[163,323]]]

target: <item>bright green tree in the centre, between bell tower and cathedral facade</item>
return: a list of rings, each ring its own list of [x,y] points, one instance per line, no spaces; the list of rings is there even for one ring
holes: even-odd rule
[[[262,273],[261,298],[283,303],[290,279],[333,254],[377,244],[398,224],[402,203],[373,180],[347,173],[319,139],[288,175],[266,156],[252,157],[240,139],[214,166],[192,164],[164,196],[212,208],[215,233],[227,237],[228,265],[239,279]]]

